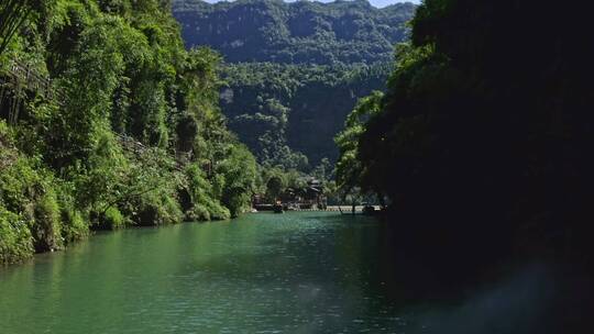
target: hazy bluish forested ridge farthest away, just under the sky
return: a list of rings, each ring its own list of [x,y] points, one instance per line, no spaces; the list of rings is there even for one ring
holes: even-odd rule
[[[406,35],[411,3],[175,0],[187,46],[210,45],[227,62],[324,64],[391,62]]]

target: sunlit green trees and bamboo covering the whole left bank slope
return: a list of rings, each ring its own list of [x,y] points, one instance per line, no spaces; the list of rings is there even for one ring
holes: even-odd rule
[[[219,111],[220,57],[184,48],[168,1],[2,1],[0,15],[0,263],[249,207],[257,166]],[[13,60],[34,76],[13,78]],[[23,89],[32,77],[52,92]]]

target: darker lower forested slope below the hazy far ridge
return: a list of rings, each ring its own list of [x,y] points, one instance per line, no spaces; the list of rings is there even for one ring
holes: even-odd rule
[[[310,170],[324,157],[336,159],[332,137],[342,120],[358,97],[383,88],[389,69],[384,64],[229,65],[221,105],[230,127],[263,165]]]

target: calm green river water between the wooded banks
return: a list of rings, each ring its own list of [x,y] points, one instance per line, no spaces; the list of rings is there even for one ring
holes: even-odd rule
[[[309,212],[100,234],[0,271],[2,333],[512,333],[542,315],[538,266],[411,303],[385,229]]]

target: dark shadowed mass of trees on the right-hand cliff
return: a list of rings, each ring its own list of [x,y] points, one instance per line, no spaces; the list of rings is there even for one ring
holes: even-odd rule
[[[340,186],[387,198],[436,245],[501,249],[513,236],[515,246],[587,247],[586,13],[576,3],[426,0],[387,92],[361,100],[337,137]]]

